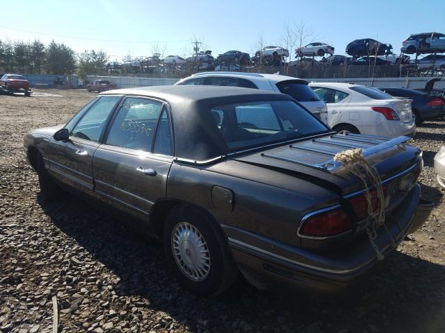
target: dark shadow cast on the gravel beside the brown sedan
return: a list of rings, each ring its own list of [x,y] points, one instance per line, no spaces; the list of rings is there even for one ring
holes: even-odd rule
[[[118,296],[149,300],[192,330],[213,332],[444,332],[445,267],[394,252],[344,298],[258,291],[239,280],[216,298],[197,298],[172,278],[161,244],[72,196],[48,203],[54,224],[120,278]],[[208,321],[205,327],[203,322]]]

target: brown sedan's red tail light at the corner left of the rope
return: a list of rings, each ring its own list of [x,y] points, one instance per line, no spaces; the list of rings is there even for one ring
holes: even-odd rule
[[[352,221],[340,207],[309,216],[300,227],[299,234],[311,237],[330,237],[352,229]]]

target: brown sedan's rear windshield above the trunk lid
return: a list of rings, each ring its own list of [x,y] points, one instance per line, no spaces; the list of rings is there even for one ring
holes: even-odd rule
[[[220,105],[211,115],[229,152],[330,131],[293,101]]]

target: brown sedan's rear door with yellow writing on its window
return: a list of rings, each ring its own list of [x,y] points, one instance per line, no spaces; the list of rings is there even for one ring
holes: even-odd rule
[[[165,196],[172,155],[166,105],[127,97],[95,153],[95,191],[107,203],[148,216],[153,203]]]

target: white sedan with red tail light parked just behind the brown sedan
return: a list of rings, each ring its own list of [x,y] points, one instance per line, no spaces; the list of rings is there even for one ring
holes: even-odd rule
[[[349,83],[310,83],[327,105],[327,125],[333,130],[398,137],[413,135],[416,123],[410,99],[395,99],[372,87]]]

